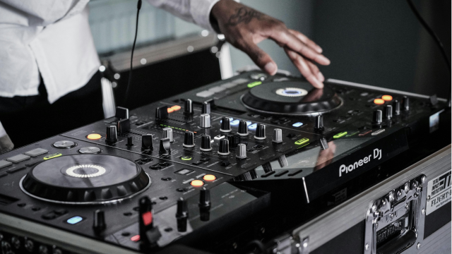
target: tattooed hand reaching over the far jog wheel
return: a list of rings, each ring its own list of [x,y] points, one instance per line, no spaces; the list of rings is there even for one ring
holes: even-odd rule
[[[285,24],[261,12],[232,0],[218,1],[212,8],[213,18],[227,42],[242,50],[270,75],[278,71],[275,61],[256,44],[271,39],[284,48],[292,63],[316,88],[323,87],[325,78],[314,62],[330,64],[322,49],[301,32],[287,29]]]

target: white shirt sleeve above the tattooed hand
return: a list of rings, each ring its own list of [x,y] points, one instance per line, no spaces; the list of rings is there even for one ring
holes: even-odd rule
[[[210,31],[213,31],[210,11],[218,1],[220,0],[148,0],[149,4]]]

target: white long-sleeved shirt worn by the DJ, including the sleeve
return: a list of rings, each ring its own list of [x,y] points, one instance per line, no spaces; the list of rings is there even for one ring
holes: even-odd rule
[[[40,73],[50,103],[88,83],[100,66],[88,1],[0,0],[1,97],[38,95]],[[218,1],[148,0],[208,30],[213,30],[210,10]]]

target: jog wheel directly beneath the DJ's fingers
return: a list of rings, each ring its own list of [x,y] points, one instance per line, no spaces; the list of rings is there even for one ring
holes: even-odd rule
[[[323,114],[342,104],[328,85],[316,89],[300,81],[262,83],[251,88],[241,99],[244,106],[253,111],[292,116]]]

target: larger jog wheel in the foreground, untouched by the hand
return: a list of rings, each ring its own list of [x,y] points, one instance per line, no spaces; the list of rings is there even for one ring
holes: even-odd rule
[[[149,186],[149,176],[140,165],[111,155],[49,159],[20,180],[22,191],[33,198],[74,205],[118,202]]]

